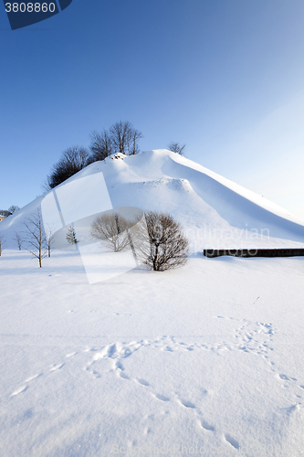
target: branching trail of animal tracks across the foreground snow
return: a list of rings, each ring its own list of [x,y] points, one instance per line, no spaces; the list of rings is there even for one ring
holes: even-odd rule
[[[122,314],[116,314],[122,315]],[[127,314],[124,314],[127,315]],[[99,382],[100,377],[102,377],[102,368],[100,369],[99,362],[101,359],[108,359],[110,360],[111,367],[110,371],[116,374],[116,376],[121,378],[121,382],[124,380],[128,380],[129,382],[134,383],[137,388],[146,389],[147,393],[152,395],[152,398],[155,400],[159,400],[162,402],[166,402],[168,405],[173,404],[173,402],[177,401],[183,409],[188,409],[190,414],[194,415],[194,418],[197,420],[198,426],[201,428],[202,433],[219,433],[219,431],[215,430],[215,426],[210,424],[208,421],[204,420],[202,416],[202,412],[195,407],[194,403],[191,402],[191,399],[179,399],[179,398],[172,398],[166,397],[158,392],[153,391],[153,387],[149,380],[142,379],[142,377],[130,377],[126,372],[125,368],[123,367],[123,359],[132,356],[135,352],[144,349],[145,347],[152,347],[158,349],[160,351],[167,351],[167,352],[183,352],[183,354],[189,354],[189,352],[193,351],[243,351],[248,354],[253,354],[256,356],[263,356],[267,363],[269,364],[269,368],[272,372],[274,372],[278,376],[278,380],[287,382],[288,386],[294,385],[297,381],[295,377],[288,377],[284,373],[277,373],[275,371],[275,364],[271,360],[268,360],[269,352],[272,350],[271,347],[271,339],[273,335],[276,334],[276,330],[273,328],[272,324],[262,323],[262,322],[255,322],[255,321],[248,321],[246,319],[236,319],[233,317],[224,317],[224,316],[217,316],[219,319],[229,319],[239,323],[238,328],[235,330],[234,337],[231,339],[231,342],[221,341],[215,344],[204,344],[204,343],[194,343],[193,341],[181,341],[179,342],[178,339],[174,336],[162,335],[161,337],[155,339],[142,339],[140,341],[131,341],[128,343],[121,343],[115,342],[111,343],[110,345],[104,345],[101,347],[85,347],[83,350],[78,352],[70,352],[65,357],[66,363],[68,363],[68,358],[72,356],[79,356],[87,354],[89,356],[89,361],[84,370],[91,376],[96,378],[96,382]],[[168,355],[170,357],[170,355]],[[41,375],[47,376],[50,375],[51,372],[57,371],[65,366],[65,363],[61,361],[60,363],[54,365],[53,367],[48,367],[46,370],[38,375],[34,375],[33,377],[27,377],[26,383],[29,383],[36,379]],[[108,370],[109,371],[109,370]],[[16,396],[17,394],[24,392],[27,386],[22,386],[21,388],[17,388],[11,396]],[[304,385],[299,385],[297,388],[304,389]],[[206,394],[207,391],[202,388],[202,395]],[[300,391],[298,390],[298,393]],[[298,396],[298,398],[300,398]],[[300,405],[300,403],[299,403]],[[291,408],[291,409],[290,409]],[[298,407],[297,407],[298,408]],[[290,409],[290,411],[289,411]],[[291,413],[295,408],[294,405],[289,407],[287,413]],[[193,411],[192,413],[190,411]],[[208,418],[206,418],[208,419]],[[146,433],[150,432],[151,429],[146,428]],[[222,431],[222,437],[225,437],[225,441],[228,443],[229,446],[234,447],[236,450],[240,448],[240,444],[236,441],[229,434],[224,434]]]

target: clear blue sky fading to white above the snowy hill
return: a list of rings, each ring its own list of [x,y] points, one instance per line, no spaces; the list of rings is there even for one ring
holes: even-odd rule
[[[0,5],[0,208],[130,121],[304,218],[303,0],[73,0],[12,31]]]

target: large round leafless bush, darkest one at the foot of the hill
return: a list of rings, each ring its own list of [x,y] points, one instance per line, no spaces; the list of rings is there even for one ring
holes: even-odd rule
[[[178,222],[170,214],[145,213],[146,227],[135,237],[135,248],[141,263],[154,271],[171,270],[183,266],[189,253],[189,241],[183,236]]]

